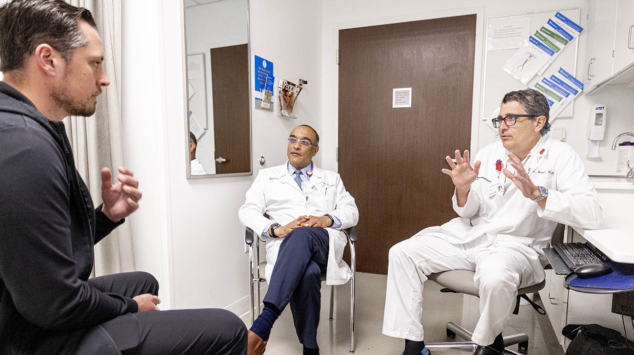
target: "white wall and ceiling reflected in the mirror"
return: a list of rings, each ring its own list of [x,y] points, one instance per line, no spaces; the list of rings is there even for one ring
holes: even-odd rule
[[[207,173],[216,173],[216,146],[214,139],[214,101],[212,95],[211,63],[209,49],[235,46],[249,41],[247,25],[247,2],[243,0],[221,0],[190,6],[185,9],[187,53],[205,55],[205,76],[207,82],[207,130],[198,139],[196,158]],[[195,95],[204,95],[197,92]],[[191,109],[191,107],[190,107]],[[204,115],[198,113],[201,121]]]

